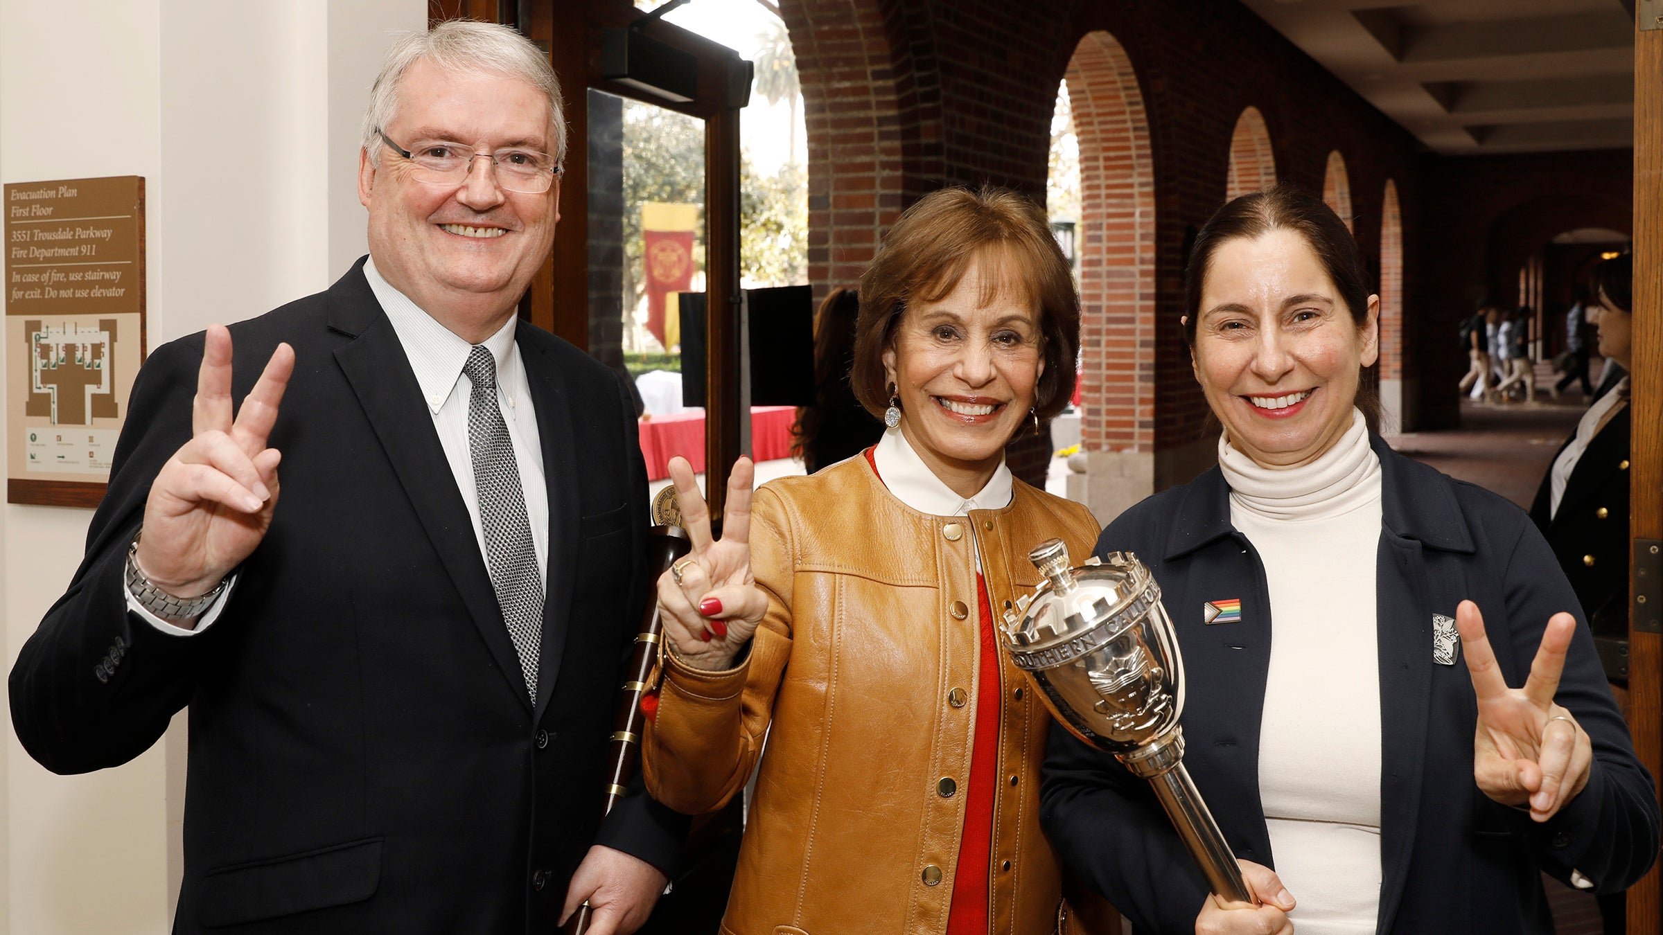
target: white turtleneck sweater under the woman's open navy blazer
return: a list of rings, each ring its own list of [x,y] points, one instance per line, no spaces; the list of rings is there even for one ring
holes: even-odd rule
[[[1219,439],[1231,522],[1264,562],[1271,667],[1259,795],[1300,935],[1374,932],[1380,905],[1380,459],[1362,413],[1314,463],[1272,469]],[[1221,624],[1229,626],[1229,624]]]

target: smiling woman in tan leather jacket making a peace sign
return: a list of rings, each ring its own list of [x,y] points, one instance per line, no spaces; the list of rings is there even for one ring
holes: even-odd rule
[[[901,215],[860,299],[875,448],[755,499],[742,459],[720,541],[672,461],[693,551],[659,582],[647,787],[708,812],[762,760],[723,932],[1051,932],[1049,715],[993,627],[1039,581],[1031,546],[1084,557],[1098,534],[1004,466],[1073,391],[1079,298],[1036,206],[943,190]]]

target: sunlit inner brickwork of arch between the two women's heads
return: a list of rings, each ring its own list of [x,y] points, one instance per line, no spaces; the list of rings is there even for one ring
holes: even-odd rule
[[[1064,73],[1079,138],[1081,448],[1114,477],[1119,512],[1154,492],[1154,160],[1137,73],[1108,32],[1086,33]],[[1101,484],[1093,481],[1093,487]],[[1101,492],[1101,491],[1099,491]]]

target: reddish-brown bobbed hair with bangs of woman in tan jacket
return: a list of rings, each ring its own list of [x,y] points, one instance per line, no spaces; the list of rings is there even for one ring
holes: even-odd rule
[[[983,304],[1016,288],[1039,308],[1044,373],[1034,413],[1049,419],[1074,393],[1079,348],[1079,291],[1038,205],[1004,188],[941,188],[925,195],[890,228],[860,280],[860,321],[850,383],[871,414],[890,404],[883,351],[911,301],[938,301],[984,260]]]

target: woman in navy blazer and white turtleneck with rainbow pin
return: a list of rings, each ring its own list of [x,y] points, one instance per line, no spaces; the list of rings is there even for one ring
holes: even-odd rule
[[[1053,730],[1044,830],[1139,935],[1545,933],[1542,872],[1618,892],[1656,855],[1651,777],[1542,534],[1365,429],[1364,283],[1342,221],[1285,186],[1197,235],[1184,324],[1221,466],[1098,551],[1161,582],[1184,762],[1262,905],[1209,897],[1147,784]]]

